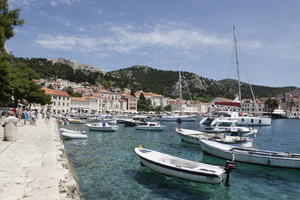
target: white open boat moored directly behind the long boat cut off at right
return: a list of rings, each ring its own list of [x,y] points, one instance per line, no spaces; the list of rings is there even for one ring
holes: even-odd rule
[[[184,142],[192,144],[200,144],[200,139],[212,140],[224,144],[234,144],[241,147],[252,147],[252,139],[240,136],[229,136],[222,133],[205,133],[201,131],[195,131],[190,129],[175,129],[180,139]]]

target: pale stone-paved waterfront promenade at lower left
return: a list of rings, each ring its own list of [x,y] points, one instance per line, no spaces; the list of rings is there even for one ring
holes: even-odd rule
[[[54,119],[18,123],[14,142],[0,128],[0,200],[80,199],[68,168]]]

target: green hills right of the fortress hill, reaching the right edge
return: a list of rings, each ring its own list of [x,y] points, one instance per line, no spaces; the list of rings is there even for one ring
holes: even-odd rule
[[[238,82],[233,79],[216,81],[191,72],[181,72],[184,99],[209,101],[222,96],[233,99],[238,93]],[[112,85],[134,90],[152,91],[167,97],[179,97],[178,72],[158,70],[147,66],[133,66],[108,72],[105,76]],[[256,97],[278,96],[296,87],[267,87],[252,85]],[[252,98],[250,86],[241,83],[242,98]]]

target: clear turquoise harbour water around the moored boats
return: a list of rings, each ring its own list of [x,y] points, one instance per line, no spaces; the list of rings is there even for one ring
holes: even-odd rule
[[[67,127],[86,130],[87,140],[65,141],[67,154],[86,200],[94,199],[300,199],[300,170],[268,168],[238,163],[231,174],[231,186],[183,181],[140,166],[134,147],[174,156],[224,165],[225,160],[203,155],[201,148],[181,142],[165,123],[163,132],[140,131],[134,127],[116,132],[88,131],[84,125]],[[198,123],[182,123],[183,128],[199,129]],[[259,128],[256,146],[261,149],[300,153],[300,121],[273,120]]]

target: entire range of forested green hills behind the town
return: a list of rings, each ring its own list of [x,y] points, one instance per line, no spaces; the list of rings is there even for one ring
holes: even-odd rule
[[[65,79],[72,82],[89,84],[100,83],[104,87],[130,88],[134,91],[154,92],[167,97],[179,97],[179,74],[177,71],[158,70],[147,66],[133,66],[108,73],[74,69],[68,64],[52,63],[44,58],[18,58],[34,69],[41,78]],[[233,99],[237,94],[237,81],[226,79],[216,81],[190,72],[181,72],[184,99],[209,101],[222,96]],[[266,87],[253,85],[256,97],[277,96],[295,87]],[[250,87],[242,83],[242,97],[251,98]]]

